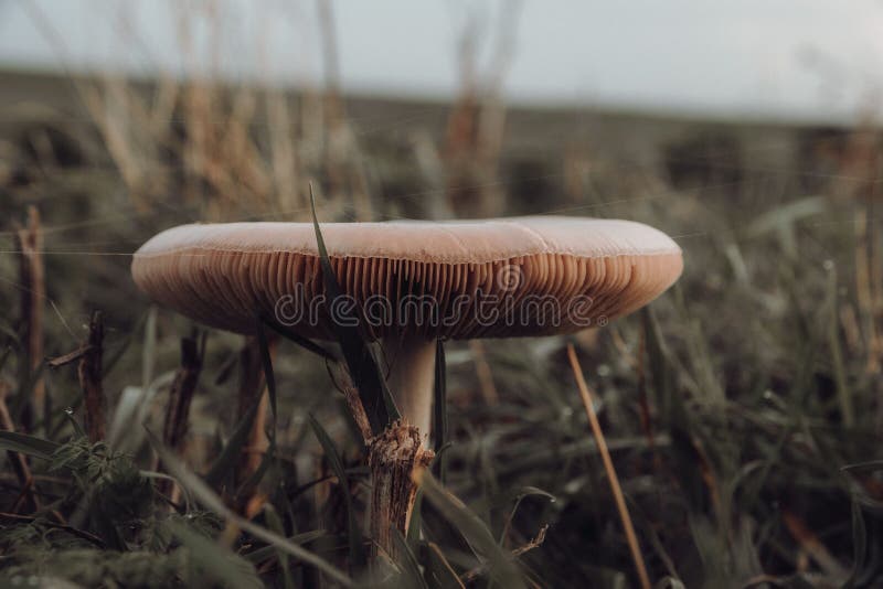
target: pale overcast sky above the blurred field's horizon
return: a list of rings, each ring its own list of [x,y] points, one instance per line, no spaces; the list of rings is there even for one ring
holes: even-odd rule
[[[450,96],[465,23],[479,23],[479,71],[487,77],[511,4],[337,0],[342,85]],[[220,34],[206,6],[217,8]],[[0,0],[0,66],[150,74],[204,69],[214,60],[232,81],[318,83],[316,7],[317,0]],[[192,35],[189,51],[182,22]],[[524,0],[511,30],[511,101],[845,120],[883,113],[883,0]]]

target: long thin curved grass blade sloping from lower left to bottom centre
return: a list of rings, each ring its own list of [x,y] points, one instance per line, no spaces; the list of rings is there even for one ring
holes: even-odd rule
[[[150,445],[157,451],[162,460],[162,463],[169,470],[169,473],[178,480],[178,483],[185,488],[193,497],[202,504],[205,508],[211,512],[214,512],[215,515],[223,517],[224,520],[235,524],[241,529],[252,534],[256,538],[259,538],[267,544],[275,546],[280,550],[285,550],[289,555],[294,556],[302,560],[304,563],[316,567],[317,569],[321,570],[326,575],[328,575],[331,579],[339,582],[343,587],[352,587],[353,581],[350,577],[340,571],[336,568],[331,563],[322,558],[321,556],[298,546],[294,542],[288,540],[287,538],[266,529],[245,517],[242,517],[233,510],[227,507],[223,500],[215,494],[214,491],[209,488],[205,482],[200,479],[196,474],[194,474],[190,469],[188,469],[181,460],[174,456],[168,448],[162,445],[157,436],[150,431],[150,429],[145,426],[147,430],[147,438],[150,440]]]

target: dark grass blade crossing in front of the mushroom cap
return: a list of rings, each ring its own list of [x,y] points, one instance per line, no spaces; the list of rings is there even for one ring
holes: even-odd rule
[[[328,301],[331,301],[329,303],[330,308],[333,306],[333,301],[340,300],[341,290],[334,269],[331,267],[331,260],[328,257],[328,249],[325,246],[322,232],[319,228],[319,221],[316,217],[316,200],[312,194],[312,184],[310,184],[310,211],[312,213],[312,226],[316,231],[316,244],[319,249],[319,263],[322,267],[322,281],[328,294]],[[359,390],[359,398],[368,415],[371,431],[376,436],[389,424],[400,419],[401,415],[386,386],[386,379],[383,376],[377,357],[362,336],[359,328],[343,324],[342,321],[336,321],[334,318],[330,319],[331,329],[334,331],[334,335],[343,351],[343,358],[347,361],[350,376]],[[358,317],[347,319],[359,320]]]

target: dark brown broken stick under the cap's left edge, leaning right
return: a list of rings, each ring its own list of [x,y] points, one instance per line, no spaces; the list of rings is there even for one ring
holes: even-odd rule
[[[162,441],[167,448],[179,454],[183,451],[183,441],[190,425],[190,401],[200,378],[203,349],[204,345],[201,346],[194,338],[181,339],[181,366],[174,373],[174,379],[169,387]],[[158,486],[161,493],[173,492],[172,481],[168,479],[160,480]]]

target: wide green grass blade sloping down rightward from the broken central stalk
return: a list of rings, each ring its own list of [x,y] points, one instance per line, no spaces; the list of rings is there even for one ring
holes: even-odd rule
[[[524,587],[524,581],[512,556],[497,544],[488,526],[464,503],[446,491],[426,469],[414,473],[415,482],[423,489],[424,501],[432,504],[462,535],[481,558],[488,561],[488,571],[496,583],[507,589]]]

